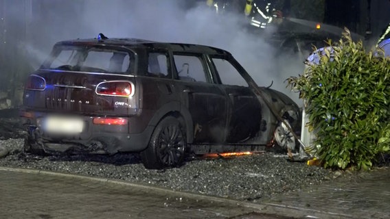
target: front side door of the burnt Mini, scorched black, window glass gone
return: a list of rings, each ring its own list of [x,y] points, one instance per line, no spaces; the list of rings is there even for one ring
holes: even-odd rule
[[[255,137],[262,120],[260,102],[229,55],[211,55],[209,58],[220,88],[229,96],[227,142],[239,143]]]

